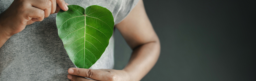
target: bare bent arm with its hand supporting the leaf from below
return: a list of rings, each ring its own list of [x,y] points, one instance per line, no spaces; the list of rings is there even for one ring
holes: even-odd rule
[[[160,41],[140,0],[130,14],[115,27],[133,49],[123,70],[69,68],[72,81],[139,81],[155,65],[160,55]],[[94,80],[86,79],[91,78]]]

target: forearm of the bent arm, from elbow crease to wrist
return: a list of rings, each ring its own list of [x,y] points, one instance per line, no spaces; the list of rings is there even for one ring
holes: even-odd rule
[[[160,55],[159,40],[135,48],[129,63],[123,69],[132,77],[132,81],[141,80],[155,65]]]

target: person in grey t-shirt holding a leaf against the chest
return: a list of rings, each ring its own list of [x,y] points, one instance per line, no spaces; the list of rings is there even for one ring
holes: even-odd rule
[[[160,40],[142,0],[1,0],[0,80],[139,81],[155,65]],[[89,69],[75,68],[58,37],[55,17],[67,5],[100,5],[133,50],[123,70],[113,70],[114,40]],[[50,15],[52,14],[52,15]],[[90,79],[87,79],[87,78]]]

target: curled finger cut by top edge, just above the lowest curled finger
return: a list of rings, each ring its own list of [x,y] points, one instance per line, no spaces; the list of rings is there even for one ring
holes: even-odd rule
[[[49,0],[31,0],[30,4],[33,7],[45,10],[46,8],[48,8],[48,4],[50,4],[50,3],[48,3],[48,1]]]

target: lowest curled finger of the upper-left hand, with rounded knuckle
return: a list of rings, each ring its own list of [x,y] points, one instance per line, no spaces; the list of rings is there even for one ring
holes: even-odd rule
[[[32,21],[43,21],[44,20],[44,10],[30,7],[28,9],[28,12],[26,13],[28,15],[28,18]]]

